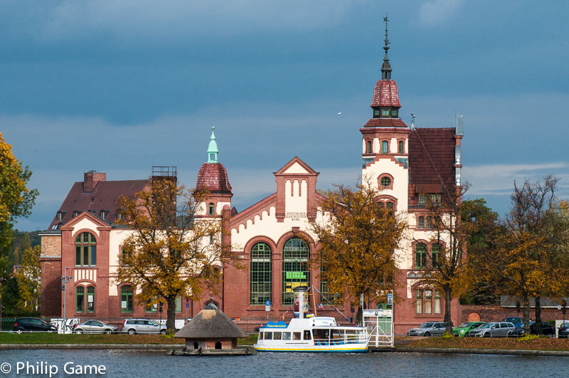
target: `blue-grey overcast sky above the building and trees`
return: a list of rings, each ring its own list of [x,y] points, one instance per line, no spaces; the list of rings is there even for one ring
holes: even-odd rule
[[[514,180],[569,194],[569,1],[0,1],[0,132],[46,229],[83,172],[196,184],[211,126],[239,211],[297,155],[317,187],[354,184],[388,13],[400,116],[464,115],[469,198],[509,209]],[[337,114],[341,112],[341,115]]]

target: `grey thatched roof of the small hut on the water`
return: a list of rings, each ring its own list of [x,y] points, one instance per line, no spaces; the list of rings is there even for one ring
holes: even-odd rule
[[[215,339],[245,337],[245,332],[221,310],[208,305],[174,336],[188,339]]]

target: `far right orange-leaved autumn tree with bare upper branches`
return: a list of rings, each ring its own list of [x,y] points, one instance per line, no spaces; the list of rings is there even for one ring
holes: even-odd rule
[[[541,298],[560,296],[567,288],[569,218],[556,196],[558,178],[514,183],[506,235],[489,273],[506,284],[505,293],[522,298],[524,326],[535,298],[536,332],[541,333]]]

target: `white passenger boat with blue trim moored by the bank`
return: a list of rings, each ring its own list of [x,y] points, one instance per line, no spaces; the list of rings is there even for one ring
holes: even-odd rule
[[[259,330],[260,352],[365,353],[369,335],[365,327],[336,325],[334,317],[305,317],[267,322]]]

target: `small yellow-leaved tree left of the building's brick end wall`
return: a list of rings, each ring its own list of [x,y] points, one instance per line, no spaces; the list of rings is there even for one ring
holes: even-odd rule
[[[21,268],[16,273],[18,280],[18,308],[38,311],[41,298],[41,246],[29,247],[23,251]]]

